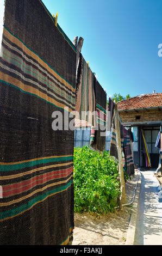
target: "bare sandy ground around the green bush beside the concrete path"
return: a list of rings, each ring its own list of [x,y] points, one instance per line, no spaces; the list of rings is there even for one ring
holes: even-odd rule
[[[126,201],[132,201],[138,172],[125,184]],[[107,216],[95,217],[88,213],[74,214],[75,228],[72,245],[124,245],[131,216],[131,207]]]

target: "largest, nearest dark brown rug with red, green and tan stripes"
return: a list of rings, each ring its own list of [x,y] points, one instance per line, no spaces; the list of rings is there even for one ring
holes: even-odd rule
[[[76,48],[40,0],[5,0],[0,58],[0,244],[72,242]],[[69,120],[70,121],[70,120]],[[64,123],[63,123],[64,126]]]

